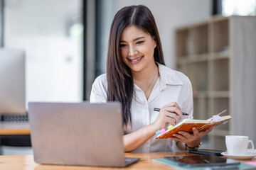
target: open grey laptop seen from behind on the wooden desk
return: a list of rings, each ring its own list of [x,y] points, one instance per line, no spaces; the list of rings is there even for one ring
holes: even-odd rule
[[[124,167],[122,106],[111,103],[28,103],[38,164]]]

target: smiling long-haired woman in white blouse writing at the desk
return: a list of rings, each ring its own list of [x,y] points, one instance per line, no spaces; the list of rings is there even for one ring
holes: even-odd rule
[[[154,140],[157,130],[184,117],[182,111],[193,118],[193,96],[188,77],[164,66],[154,16],[146,6],[127,6],[114,16],[107,74],[95,79],[90,96],[91,103],[107,101],[122,103],[125,152],[171,152],[173,140],[178,149],[196,148],[212,130],[193,128],[193,134]]]

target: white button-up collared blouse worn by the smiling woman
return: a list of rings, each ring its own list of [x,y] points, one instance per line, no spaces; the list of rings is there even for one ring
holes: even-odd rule
[[[154,111],[154,108],[161,108],[174,101],[178,103],[182,112],[188,113],[185,118],[193,118],[193,94],[191,81],[188,77],[162,64],[159,64],[159,74],[160,77],[156,81],[148,100],[146,100],[142,89],[134,84],[135,95],[132,98],[131,106],[132,126],[129,124],[127,127],[124,126],[124,135],[153,123],[159,114],[159,112]],[[92,84],[90,103],[106,102],[107,75],[102,74]],[[172,152],[172,140],[155,140],[154,137],[151,137],[133,152]]]

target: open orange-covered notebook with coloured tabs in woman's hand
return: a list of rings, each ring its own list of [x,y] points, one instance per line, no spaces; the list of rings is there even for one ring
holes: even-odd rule
[[[199,132],[203,130],[207,130],[213,125],[220,125],[221,123],[225,123],[226,121],[230,120],[232,117],[230,115],[219,116],[218,120],[214,120],[210,118],[208,120],[196,120],[196,119],[184,119],[181,120],[180,123],[177,125],[170,126],[169,130],[161,130],[162,134],[159,134],[155,137],[155,139],[166,139],[168,137],[174,137],[173,134],[177,133],[178,131],[186,131],[186,132],[193,132],[192,128],[196,127]]]

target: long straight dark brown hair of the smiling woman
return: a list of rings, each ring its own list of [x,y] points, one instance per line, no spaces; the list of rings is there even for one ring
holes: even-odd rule
[[[156,42],[154,60],[164,64],[159,33],[154,16],[149,8],[139,5],[126,6],[120,9],[114,16],[110,29],[107,52],[107,101],[119,101],[122,103],[124,125],[132,121],[131,105],[134,95],[134,82],[131,70],[122,60],[119,41],[124,28],[130,25],[141,28],[154,38]]]

